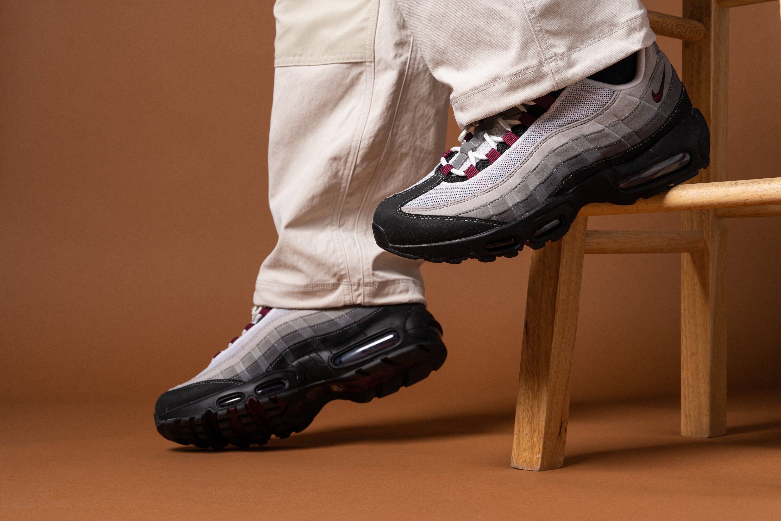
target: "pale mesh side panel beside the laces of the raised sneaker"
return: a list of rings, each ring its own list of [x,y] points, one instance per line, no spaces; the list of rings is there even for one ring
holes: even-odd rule
[[[611,89],[583,82],[567,87],[555,105],[535,121],[515,142],[515,145],[502,154],[493,165],[463,183],[440,184],[408,202],[406,206],[423,208],[454,202],[497,184],[511,173],[547,134],[594,116],[610,102],[613,95],[615,91]],[[508,187],[510,188],[512,187]]]

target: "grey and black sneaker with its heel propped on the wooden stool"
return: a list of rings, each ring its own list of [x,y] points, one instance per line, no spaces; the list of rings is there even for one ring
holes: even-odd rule
[[[563,237],[583,205],[631,205],[710,161],[708,126],[656,44],[466,130],[377,207],[381,248],[433,262],[514,257]]]

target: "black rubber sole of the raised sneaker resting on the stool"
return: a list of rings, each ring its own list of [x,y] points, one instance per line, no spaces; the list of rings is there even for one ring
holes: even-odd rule
[[[653,163],[649,157],[662,161],[673,155],[687,152],[690,162],[683,169],[649,180],[646,184],[630,190],[620,188],[621,181],[634,173],[643,171]],[[407,259],[423,259],[428,262],[459,264],[468,259],[493,262],[497,257],[512,258],[524,246],[543,248],[547,241],[558,241],[569,231],[583,206],[592,202],[609,202],[614,205],[633,205],[639,198],[651,198],[690,180],[710,163],[710,139],[708,126],[697,109],[678,123],[667,134],[650,145],[647,152],[629,161],[607,166],[582,180],[575,187],[561,194],[554,194],[536,209],[520,219],[506,223],[472,237],[433,244],[399,245],[388,244],[378,239],[377,244],[387,252]],[[558,224],[544,233],[540,228],[549,223]],[[375,237],[385,237],[385,232],[376,223]]]

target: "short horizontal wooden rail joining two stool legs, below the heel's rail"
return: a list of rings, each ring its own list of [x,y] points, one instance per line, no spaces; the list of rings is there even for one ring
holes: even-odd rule
[[[588,230],[586,253],[694,253],[705,248],[705,237],[695,230]]]

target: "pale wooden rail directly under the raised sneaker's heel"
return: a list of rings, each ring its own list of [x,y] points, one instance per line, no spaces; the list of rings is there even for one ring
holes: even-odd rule
[[[781,205],[781,177],[717,183],[681,184],[633,205],[596,202],[583,206],[579,216],[613,216],[627,213],[679,212]]]

